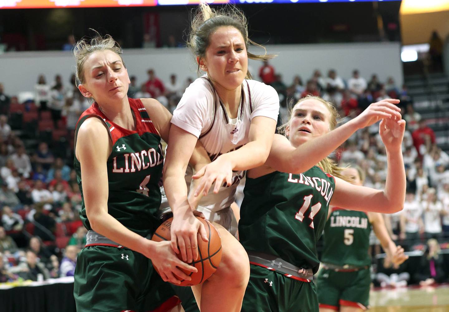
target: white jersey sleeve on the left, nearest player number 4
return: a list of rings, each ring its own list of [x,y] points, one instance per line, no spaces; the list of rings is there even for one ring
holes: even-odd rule
[[[182,96],[173,112],[172,123],[196,137],[201,135],[207,124],[207,107],[214,97],[206,86],[192,83]]]

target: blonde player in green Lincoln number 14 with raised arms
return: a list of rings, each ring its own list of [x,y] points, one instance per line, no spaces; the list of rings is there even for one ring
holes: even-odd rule
[[[319,310],[311,280],[319,266],[316,242],[330,204],[384,213],[402,209],[405,170],[401,142],[405,121],[392,104],[398,102],[371,104],[335,132],[330,130],[337,124],[337,112],[329,102],[305,97],[293,107],[286,127],[288,139],[276,135],[264,166],[247,173],[239,237],[249,255],[251,275],[242,311],[253,311],[254,307],[261,311]],[[379,119],[379,133],[387,148],[384,191],[352,185],[339,178],[342,169],[325,158],[329,151],[324,155],[313,150],[302,154],[311,146],[322,144],[336,148],[357,129]],[[315,166],[304,172],[320,159],[324,171]]]

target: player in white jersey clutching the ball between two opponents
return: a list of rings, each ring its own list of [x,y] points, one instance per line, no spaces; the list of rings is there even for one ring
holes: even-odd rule
[[[187,199],[185,182],[189,158],[198,141],[212,161],[196,174],[197,178],[202,177],[198,193],[204,195],[198,210],[207,219],[223,225],[214,224],[222,242],[220,266],[202,285],[192,287],[201,311],[240,311],[249,279],[247,253],[228,232],[237,226],[229,207],[243,171],[260,166],[267,159],[279,110],[276,91],[247,75],[248,57],[270,57],[247,52],[249,44],[242,13],[233,9],[215,13],[201,4],[192,23],[189,46],[198,69],[206,75],[186,89],[172,118],[163,172],[165,193],[174,216],[172,248],[189,263],[197,258],[198,233],[207,241],[204,226],[193,214],[197,203]]]

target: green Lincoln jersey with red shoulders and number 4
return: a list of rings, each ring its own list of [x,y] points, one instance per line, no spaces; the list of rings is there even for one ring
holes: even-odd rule
[[[101,112],[97,103],[93,103],[79,118],[75,139],[79,127],[86,119],[98,116],[106,123],[113,143],[107,160],[108,213],[131,231],[146,237],[160,224],[159,181],[162,176],[163,152],[161,138],[141,100],[130,98],[129,105],[136,118],[136,131],[124,129],[111,122]],[[76,157],[74,165],[79,190],[83,196],[83,177]],[[80,217],[86,229],[90,230],[84,198]]]

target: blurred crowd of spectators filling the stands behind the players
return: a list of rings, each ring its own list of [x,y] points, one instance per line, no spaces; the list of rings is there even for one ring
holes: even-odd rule
[[[147,73],[145,82],[130,77],[128,96],[156,98],[173,112],[193,79],[181,82],[172,74],[163,81],[154,70]],[[287,84],[268,62],[258,76],[254,78],[279,94],[279,124],[288,119],[289,106],[308,94],[334,103],[341,123],[375,101],[401,99],[407,121],[403,142],[407,195],[403,211],[385,215],[387,229],[409,250],[428,238],[443,242],[449,237],[449,156],[436,145],[426,120],[414,111],[405,86],[396,86],[392,77],[365,79],[358,70],[342,78],[332,69],[326,77],[315,70],[305,83],[297,75]],[[76,255],[86,239],[79,220],[73,137],[76,122],[89,105],[75,87],[75,75],[67,83],[60,75],[53,83],[40,75],[28,97],[9,95],[0,83],[0,282],[73,275]],[[387,155],[378,130],[376,124],[356,132],[332,157],[342,166],[361,167],[365,185],[383,189]],[[372,245],[379,253],[379,242],[373,239]]]

